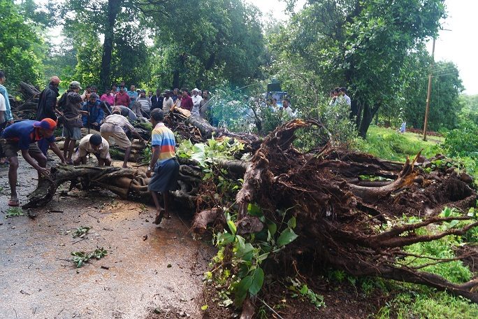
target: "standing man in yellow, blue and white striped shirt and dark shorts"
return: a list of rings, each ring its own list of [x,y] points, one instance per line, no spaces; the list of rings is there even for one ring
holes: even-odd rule
[[[168,211],[169,191],[176,188],[180,167],[176,160],[174,134],[164,125],[163,120],[162,110],[156,108],[151,111],[150,121],[154,127],[151,134],[152,156],[146,176],[152,176],[147,189],[151,192],[154,206],[156,206],[156,218],[153,222],[156,225],[159,225],[164,214],[168,218],[170,217]],[[159,205],[158,192],[163,193],[164,208]]]

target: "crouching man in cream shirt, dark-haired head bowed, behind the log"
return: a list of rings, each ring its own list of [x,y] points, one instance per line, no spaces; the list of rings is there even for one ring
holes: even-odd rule
[[[110,166],[110,145],[106,139],[103,139],[99,134],[88,134],[80,141],[80,146],[75,153],[73,164],[83,164],[87,162],[87,155],[92,153],[98,160],[98,166]]]

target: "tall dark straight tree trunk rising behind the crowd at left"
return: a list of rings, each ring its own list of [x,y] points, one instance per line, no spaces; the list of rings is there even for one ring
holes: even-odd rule
[[[108,0],[108,20],[105,27],[105,41],[103,56],[101,57],[100,87],[111,85],[111,57],[113,55],[113,41],[115,38],[116,17],[121,10],[120,0]]]

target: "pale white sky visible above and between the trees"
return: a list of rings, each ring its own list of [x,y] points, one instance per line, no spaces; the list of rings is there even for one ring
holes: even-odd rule
[[[284,14],[286,4],[279,0],[245,0],[254,4],[263,13],[287,19]],[[304,1],[298,1],[298,7]],[[448,17],[444,20],[435,43],[435,61],[451,61],[458,66],[466,94],[478,94],[478,41],[475,35],[478,18],[478,0],[446,0]],[[280,20],[280,19],[277,19]],[[432,43],[429,41],[428,50],[431,52]]]

